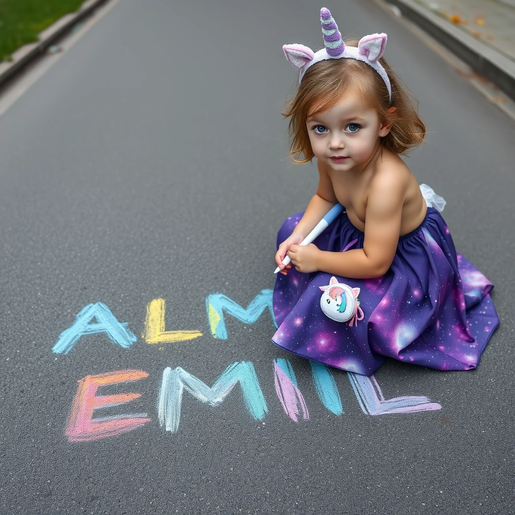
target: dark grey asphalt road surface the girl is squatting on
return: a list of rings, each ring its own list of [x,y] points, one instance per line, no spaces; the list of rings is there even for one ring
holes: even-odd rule
[[[457,249],[495,284],[500,328],[472,371],[388,361],[375,374],[385,398],[433,406],[390,414],[362,409],[338,371],[343,413],[334,388],[324,404],[308,362],[270,342],[266,308],[255,322],[226,315],[226,339],[211,333],[206,299],[247,307],[273,287],[277,230],[316,187],[313,166],[287,159],[280,112],[297,72],[281,46],[319,47],[320,7],[122,0],[0,117],[2,513],[515,512],[515,123],[369,0],[325,7],[344,35],[388,33],[385,57],[428,127],[407,162],[448,201]],[[166,331],[202,335],[148,344],[155,299]],[[99,302],[135,341],[86,334],[53,352]],[[309,420],[283,409],[276,359],[293,367]],[[228,392],[222,373],[236,362],[253,367]],[[209,387],[222,377],[226,390],[208,393],[212,404],[227,397],[210,406],[202,385],[186,384],[166,431],[157,402],[167,367]],[[139,379],[118,381],[123,370]],[[141,397],[98,407],[93,386],[107,372],[97,397]],[[102,433],[102,414],[113,432]],[[135,425],[119,433],[124,420]]]

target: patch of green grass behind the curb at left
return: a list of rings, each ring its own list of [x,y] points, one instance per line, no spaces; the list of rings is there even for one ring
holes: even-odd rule
[[[75,12],[84,0],[0,0],[0,61],[25,45],[64,14]]]

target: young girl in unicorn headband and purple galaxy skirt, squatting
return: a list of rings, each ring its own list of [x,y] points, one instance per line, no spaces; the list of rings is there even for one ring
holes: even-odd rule
[[[290,155],[297,163],[316,157],[320,178],[305,212],[278,234],[272,341],[365,375],[385,356],[439,370],[475,368],[499,324],[493,285],[456,254],[432,207],[445,201],[419,186],[399,157],[423,141],[425,126],[381,57],[386,34],[344,43],[329,10],[320,16],[324,49],[283,47],[300,68],[284,113]],[[301,246],[337,202],[344,212]]]

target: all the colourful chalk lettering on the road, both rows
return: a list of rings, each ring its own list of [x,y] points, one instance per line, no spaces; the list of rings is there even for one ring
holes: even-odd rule
[[[272,290],[264,289],[254,297],[247,308],[238,305],[222,294],[212,294],[205,299],[208,323],[214,338],[227,339],[224,316],[231,316],[246,324],[259,319],[268,308],[275,323],[272,311]],[[127,329],[126,322],[119,322],[109,308],[97,302],[84,306],[76,320],[64,330],[52,348],[55,353],[67,354],[73,349],[81,336],[105,333],[111,342],[123,348],[129,348],[136,336]],[[186,341],[202,336],[200,331],[166,331],[165,301],[153,299],[148,305],[145,318],[145,332],[148,344]],[[311,375],[318,398],[331,413],[336,416],[344,414],[342,402],[336,385],[334,371],[321,363],[310,361]],[[339,371],[338,371],[339,372]],[[340,372],[339,372],[340,373]],[[299,388],[293,366],[288,359],[273,360],[274,385],[277,397],[286,413],[293,421],[310,420],[306,400]],[[441,409],[440,404],[431,402],[423,396],[402,396],[385,399],[375,377],[347,372],[353,392],[359,406],[366,415],[386,415],[394,413],[414,413]],[[143,370],[121,370],[96,375],[87,375],[78,381],[70,417],[65,434],[69,441],[89,441],[120,435],[134,430],[151,420],[146,413],[129,413],[125,415],[93,418],[98,415],[95,410],[128,403],[139,398],[140,393],[118,393],[97,396],[101,386],[136,381],[148,377]],[[268,413],[266,400],[256,375],[254,365],[249,361],[234,362],[220,374],[212,387],[187,372],[181,367],[163,370],[162,381],[157,400],[159,424],[165,431],[176,433],[179,428],[182,394],[184,388],[193,397],[210,406],[218,406],[228,396],[236,384],[242,391],[245,408],[254,420],[263,420]]]

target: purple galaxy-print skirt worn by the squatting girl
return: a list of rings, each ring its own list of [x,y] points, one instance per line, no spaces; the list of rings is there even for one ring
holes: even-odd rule
[[[303,213],[289,217],[278,246],[293,232]],[[314,244],[321,250],[363,248],[364,233],[342,213]],[[456,254],[447,225],[434,208],[422,224],[401,236],[389,270],[377,279],[336,277],[359,288],[364,318],[338,322],[322,312],[321,287],[332,275],[302,273],[292,267],[278,274],[273,311],[279,347],[326,365],[370,375],[385,356],[437,370],[469,370],[499,325],[488,292],[492,283]],[[333,279],[333,281],[335,281]]]

